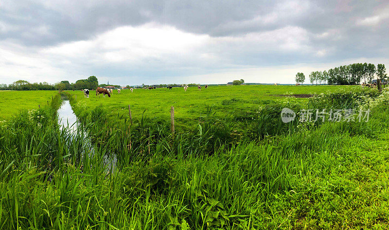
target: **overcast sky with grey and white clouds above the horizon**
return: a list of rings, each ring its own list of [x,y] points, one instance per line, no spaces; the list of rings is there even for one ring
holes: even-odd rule
[[[293,83],[388,44],[389,0],[0,1],[0,83]]]

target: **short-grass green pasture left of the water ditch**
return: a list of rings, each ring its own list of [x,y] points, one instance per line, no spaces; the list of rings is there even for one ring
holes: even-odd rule
[[[0,91],[0,120],[7,120],[18,115],[20,110],[37,109],[47,105],[57,91]]]

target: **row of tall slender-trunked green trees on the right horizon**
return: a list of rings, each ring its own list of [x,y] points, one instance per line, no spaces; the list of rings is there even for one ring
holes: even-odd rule
[[[371,63],[354,63],[346,66],[339,66],[324,71],[313,71],[309,74],[309,82],[313,85],[321,83],[330,85],[355,85],[360,82],[371,83],[374,75],[382,82],[387,81],[387,73],[384,64],[377,67]],[[302,83],[305,81],[303,73],[297,73],[295,81]]]

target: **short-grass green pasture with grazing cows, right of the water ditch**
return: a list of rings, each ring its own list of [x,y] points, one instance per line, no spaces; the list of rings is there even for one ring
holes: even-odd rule
[[[204,115],[207,106],[213,106],[213,111],[219,117],[226,115],[245,114],[257,110],[259,106],[274,101],[287,101],[283,97],[288,94],[320,94],[335,92],[341,89],[355,88],[356,86],[273,86],[273,85],[239,85],[239,86],[211,86],[204,87],[201,91],[197,87],[189,87],[187,92],[183,88],[157,88],[153,90],[134,89],[122,90],[118,94],[113,91],[111,98],[96,97],[95,92],[90,92],[89,98],[84,98],[82,91],[68,91],[71,95],[77,95],[77,103],[80,106],[94,108],[102,106],[111,116],[128,117],[128,105],[131,106],[131,114],[134,119],[141,119],[143,112],[149,117],[158,119],[170,119],[170,107],[175,108],[177,125],[192,125],[198,121],[200,115]],[[306,98],[292,98],[291,102],[305,103]],[[123,116],[122,116],[123,115]]]

